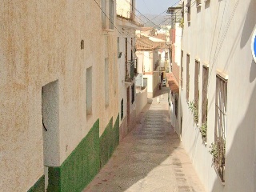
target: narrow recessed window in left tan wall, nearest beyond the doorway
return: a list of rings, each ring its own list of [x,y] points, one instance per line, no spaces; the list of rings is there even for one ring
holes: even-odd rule
[[[92,66],[86,70],[86,114],[92,114]]]

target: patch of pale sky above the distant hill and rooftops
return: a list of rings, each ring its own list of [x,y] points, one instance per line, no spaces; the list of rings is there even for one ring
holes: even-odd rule
[[[136,9],[142,14],[162,14],[179,0],[136,0]]]

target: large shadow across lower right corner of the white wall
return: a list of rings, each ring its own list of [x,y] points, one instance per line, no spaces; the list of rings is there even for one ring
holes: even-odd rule
[[[228,144],[230,145],[230,150],[226,154],[226,182],[228,184],[224,187],[225,191],[256,191],[255,103],[256,86],[254,86],[246,114],[238,125],[234,139],[231,144]],[[237,104],[244,105],[243,102]],[[226,138],[227,143],[230,142],[228,139]],[[216,180],[211,191],[220,192],[222,188],[220,181]]]

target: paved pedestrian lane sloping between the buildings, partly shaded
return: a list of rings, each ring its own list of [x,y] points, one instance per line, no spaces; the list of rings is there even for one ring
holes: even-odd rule
[[[149,99],[134,130],[84,192],[205,192],[170,126],[166,89],[158,92],[160,103]]]

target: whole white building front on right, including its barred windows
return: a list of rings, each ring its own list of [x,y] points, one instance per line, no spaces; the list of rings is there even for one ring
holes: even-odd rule
[[[178,134],[207,191],[256,191],[256,2],[182,7]]]

